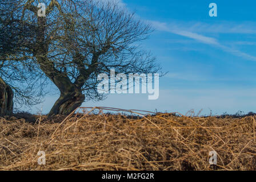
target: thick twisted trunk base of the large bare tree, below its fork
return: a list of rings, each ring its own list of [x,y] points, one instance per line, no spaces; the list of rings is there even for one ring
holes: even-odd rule
[[[70,93],[61,93],[61,96],[51,109],[49,116],[57,114],[69,115],[77,109],[77,107],[81,106],[83,101],[85,101],[85,95],[82,94],[81,90],[75,89]]]

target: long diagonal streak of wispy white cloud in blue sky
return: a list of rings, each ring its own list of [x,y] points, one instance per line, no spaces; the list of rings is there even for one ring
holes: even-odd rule
[[[204,36],[204,35],[201,35],[201,34],[198,34],[195,32],[191,32],[191,31],[187,31],[187,29],[189,29],[189,28],[185,29],[184,27],[179,27],[177,24],[170,26],[167,23],[162,23],[162,22],[157,22],[157,21],[150,21],[150,22],[151,22],[152,26],[159,31],[165,31],[165,32],[170,32],[172,34],[185,36],[187,38],[197,40],[198,42],[218,47],[218,48],[222,49],[223,51],[229,52],[235,56],[243,57],[244,59],[251,60],[251,61],[256,61],[256,56],[252,56],[245,52],[239,51],[237,49],[230,48],[229,46],[225,46],[225,45],[219,43],[219,41],[215,38],[211,38],[209,36]],[[197,27],[197,26],[195,26],[195,27]],[[218,29],[220,30],[221,28],[218,28]],[[231,30],[233,30],[233,32],[238,32],[238,29],[239,28],[237,28],[237,27],[231,28]],[[251,32],[251,31],[249,31],[249,32]],[[240,33],[242,33],[242,31],[240,31]]]

